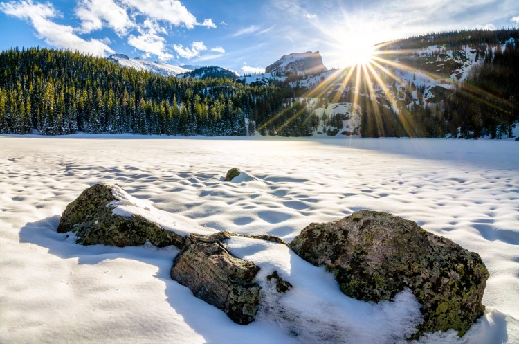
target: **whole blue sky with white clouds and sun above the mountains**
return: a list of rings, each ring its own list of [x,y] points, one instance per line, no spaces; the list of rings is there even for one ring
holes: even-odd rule
[[[123,53],[248,73],[320,51],[328,68],[390,39],[519,26],[518,0],[1,0],[0,48]]]

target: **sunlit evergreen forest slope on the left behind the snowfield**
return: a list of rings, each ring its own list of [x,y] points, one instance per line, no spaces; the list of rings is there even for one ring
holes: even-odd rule
[[[253,134],[289,89],[166,78],[44,48],[0,54],[0,133]]]

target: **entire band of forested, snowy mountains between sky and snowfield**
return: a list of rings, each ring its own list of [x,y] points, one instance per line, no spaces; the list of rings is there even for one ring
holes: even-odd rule
[[[328,70],[317,51],[291,53],[238,77],[219,66],[13,48],[0,53],[0,133],[519,136],[518,29],[410,37],[375,55]]]

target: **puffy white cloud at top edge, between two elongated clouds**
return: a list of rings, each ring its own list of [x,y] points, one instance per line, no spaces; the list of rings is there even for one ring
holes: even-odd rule
[[[118,35],[126,35],[135,26],[125,8],[113,0],[80,0],[75,15],[81,20],[79,33],[91,33],[103,28],[106,23]]]

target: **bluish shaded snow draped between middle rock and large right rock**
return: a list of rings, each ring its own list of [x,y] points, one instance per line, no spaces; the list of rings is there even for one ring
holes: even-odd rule
[[[349,298],[325,269],[298,257],[286,245],[244,237],[226,240],[230,253],[260,266],[255,281],[262,287],[257,323],[275,323],[299,343],[406,343],[421,322],[419,304],[410,291],[393,302],[373,304]],[[273,271],[292,284],[278,293],[268,281]]]

